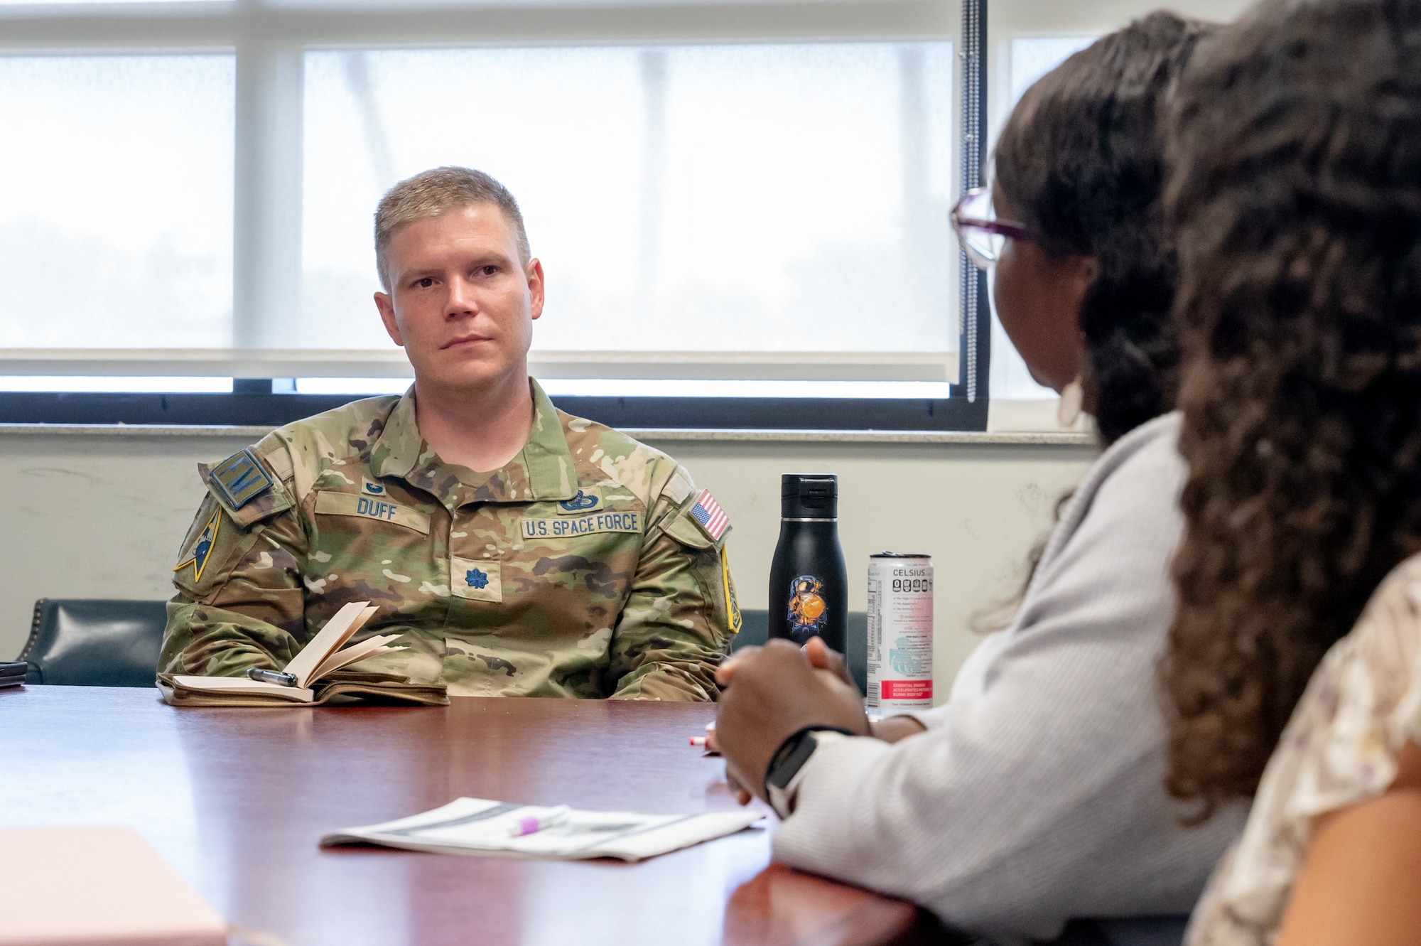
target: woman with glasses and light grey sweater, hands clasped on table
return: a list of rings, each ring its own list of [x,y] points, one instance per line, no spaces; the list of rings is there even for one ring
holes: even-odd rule
[[[998,314],[1032,374],[1079,392],[1107,445],[1010,625],[946,705],[871,730],[857,690],[816,673],[831,663],[817,641],[740,651],[718,676],[728,773],[787,815],[776,859],[999,942],[1076,916],[1182,913],[1242,824],[1242,807],[1177,822],[1154,676],[1185,477],[1157,115],[1208,28],[1154,14],[1043,77],[996,146],[995,200],[968,195],[955,213],[969,256],[995,264]],[[878,739],[820,743],[814,727]],[[772,767],[793,790],[772,795]]]

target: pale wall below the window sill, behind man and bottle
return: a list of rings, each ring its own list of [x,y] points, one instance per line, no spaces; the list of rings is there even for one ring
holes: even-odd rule
[[[250,436],[0,433],[0,659],[24,645],[36,598],[168,598],[202,484],[193,469]],[[840,476],[850,608],[865,608],[868,554],[936,564],[938,693],[976,642],[969,616],[1010,594],[1056,497],[1093,450],[1020,443],[655,442],[730,516],[742,607],[764,608],[780,473]]]

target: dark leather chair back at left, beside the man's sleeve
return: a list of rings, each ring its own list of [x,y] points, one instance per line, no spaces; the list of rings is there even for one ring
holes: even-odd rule
[[[34,602],[26,683],[152,686],[168,621],[163,601]]]

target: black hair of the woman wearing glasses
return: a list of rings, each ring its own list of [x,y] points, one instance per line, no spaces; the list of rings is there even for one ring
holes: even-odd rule
[[[996,183],[1054,256],[1094,256],[1086,293],[1087,403],[1106,443],[1174,406],[1178,277],[1164,227],[1160,105],[1212,28],[1154,13],[1026,91],[996,145]]]

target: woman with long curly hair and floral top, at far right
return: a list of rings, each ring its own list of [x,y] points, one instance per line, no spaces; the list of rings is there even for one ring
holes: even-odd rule
[[[1258,791],[1189,943],[1421,942],[1421,0],[1270,0],[1171,125],[1167,784]]]

